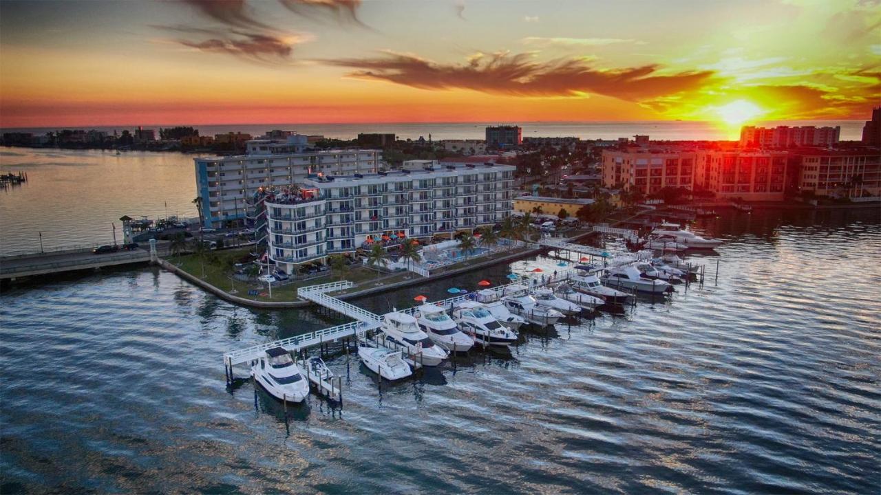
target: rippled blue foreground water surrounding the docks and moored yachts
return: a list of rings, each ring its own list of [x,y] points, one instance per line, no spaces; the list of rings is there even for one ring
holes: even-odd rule
[[[877,493],[877,215],[701,226],[727,240],[694,258],[703,288],[393,386],[337,357],[343,410],[312,397],[287,424],[249,382],[227,392],[221,355],[339,320],[233,307],[151,269],[15,288],[0,299],[0,492]]]

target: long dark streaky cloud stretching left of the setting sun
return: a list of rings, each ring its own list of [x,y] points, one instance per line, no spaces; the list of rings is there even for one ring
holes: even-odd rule
[[[519,96],[597,93],[621,100],[648,100],[702,87],[712,71],[658,75],[656,65],[614,70],[582,59],[536,62],[531,54],[478,54],[464,64],[433,63],[415,55],[386,53],[368,59],[325,60],[354,69],[353,78],[376,79],[421,89],[470,89]]]

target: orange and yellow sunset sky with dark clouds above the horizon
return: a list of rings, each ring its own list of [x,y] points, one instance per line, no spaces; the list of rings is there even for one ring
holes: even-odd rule
[[[873,0],[0,2],[0,126],[865,119]]]

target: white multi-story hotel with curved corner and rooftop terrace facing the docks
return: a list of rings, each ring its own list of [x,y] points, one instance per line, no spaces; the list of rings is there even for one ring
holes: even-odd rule
[[[513,210],[515,166],[310,175],[300,192],[264,200],[270,258],[279,270],[392,239],[493,225]]]

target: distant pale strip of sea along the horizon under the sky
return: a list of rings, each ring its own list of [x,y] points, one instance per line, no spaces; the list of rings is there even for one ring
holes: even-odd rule
[[[867,115],[866,118],[869,118]],[[617,139],[631,137],[634,134],[648,134],[653,139],[737,139],[739,129],[730,129],[715,122],[692,121],[645,121],[645,122],[378,122],[378,123],[267,123],[267,124],[224,124],[196,125],[203,136],[213,136],[231,131],[246,132],[252,136],[263,135],[270,129],[296,130],[300,134],[320,134],[338,139],[354,139],[361,132],[393,132],[399,139],[418,139],[429,135],[438,139],[483,139],[484,128],[488,125],[500,124],[519,125],[523,128],[523,137],[581,137],[582,139]],[[757,125],[817,125],[840,126],[841,139],[860,140],[862,124],[865,121],[787,121],[758,122]],[[145,126],[158,129],[170,126]],[[132,126],[103,127],[100,130],[109,132],[132,129]],[[4,129],[6,130],[6,129]],[[51,129],[14,129],[25,132],[45,134]]]

